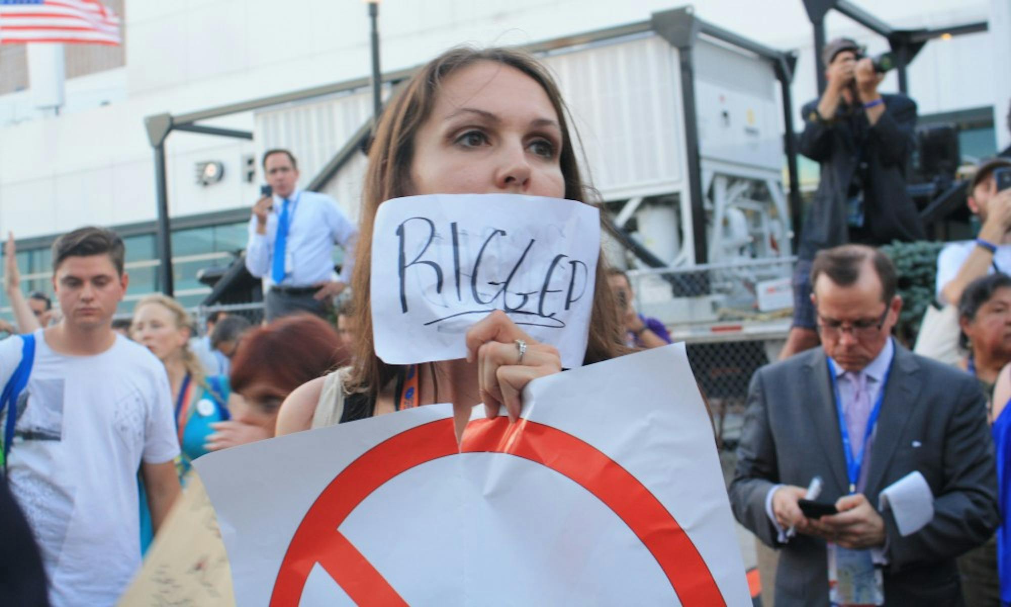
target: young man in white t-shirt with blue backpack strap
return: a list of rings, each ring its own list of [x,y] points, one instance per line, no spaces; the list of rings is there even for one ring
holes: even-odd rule
[[[114,605],[129,584],[141,565],[137,470],[156,531],[180,492],[165,367],[112,331],[128,282],[123,256],[122,240],[100,228],[54,243],[64,320],[34,333],[17,400],[7,480],[41,547],[57,607]],[[0,342],[0,385],[22,344]]]

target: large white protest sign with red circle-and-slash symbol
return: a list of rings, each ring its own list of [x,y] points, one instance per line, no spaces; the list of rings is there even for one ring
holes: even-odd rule
[[[621,378],[621,381],[616,378]],[[682,345],[201,457],[239,605],[749,605]]]

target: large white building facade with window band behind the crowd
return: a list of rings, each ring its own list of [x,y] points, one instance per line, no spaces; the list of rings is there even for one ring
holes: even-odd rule
[[[894,27],[940,28],[1006,19],[1001,7],[1007,2],[858,4]],[[516,0],[508,5],[387,0],[380,6],[382,68],[410,68],[460,44],[530,45],[644,21],[653,12],[677,6],[657,0]],[[802,128],[797,111],[815,96],[816,81],[812,28],[801,0],[700,0],[695,8],[698,16],[724,29],[799,52],[792,91],[795,123]],[[0,94],[0,232],[12,231],[18,239],[24,289],[51,291],[48,247],[56,236],[84,225],[116,229],[126,241],[131,274],[125,312],[136,298],[158,289],[155,168],[145,117],[350,81],[367,76],[371,64],[366,5],[356,0],[125,0],[121,11],[120,65],[69,78],[58,115],[35,108],[30,84],[11,90],[19,88],[10,86],[13,72],[0,72],[0,92],[6,91]],[[871,53],[887,50],[885,39],[832,15],[828,37],[837,35],[865,41]],[[1008,95],[996,78],[1005,64],[993,59],[998,47],[993,38],[991,29],[932,40],[909,68],[909,92],[919,104],[921,121],[958,122],[964,156],[993,154],[1009,143],[1003,118]],[[68,51],[72,53],[74,49]],[[890,75],[883,90],[896,89],[896,77]],[[340,116],[312,115],[313,107],[327,105],[317,98],[303,102],[304,111],[264,108],[207,122],[251,131],[253,141],[171,135],[166,153],[174,275],[176,293],[185,305],[196,305],[209,292],[197,280],[198,270],[227,265],[245,247],[249,208],[262,182],[263,150],[278,143],[291,149],[301,161],[304,185],[368,118],[367,90],[346,94],[360,101],[355,111]],[[320,146],[318,139],[284,141],[285,134],[299,132],[299,124],[283,121],[299,115],[332,133],[327,145]],[[995,115],[1001,117],[995,120]],[[198,183],[196,168],[205,162],[221,164],[220,181]],[[353,162],[363,165],[364,159],[359,155]],[[811,167],[802,168],[810,181]],[[353,183],[331,193],[357,219]],[[5,307],[0,298],[0,313]]]

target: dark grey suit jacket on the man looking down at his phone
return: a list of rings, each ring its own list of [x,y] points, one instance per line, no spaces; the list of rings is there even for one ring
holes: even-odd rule
[[[877,509],[885,488],[918,470],[934,496],[933,519],[910,535],[899,533],[891,510],[882,515],[885,604],[961,605],[955,556],[983,544],[1000,524],[986,399],[968,373],[898,345],[884,389],[863,494]],[[737,520],[779,548],[776,605],[828,605],[825,541],[798,534],[779,544],[765,498],[776,484],[805,487],[816,474],[825,483],[820,502],[844,495],[839,432],[822,348],[755,372],[729,493]]]

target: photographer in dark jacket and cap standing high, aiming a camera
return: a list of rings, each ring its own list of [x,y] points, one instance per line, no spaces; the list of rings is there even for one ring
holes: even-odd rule
[[[822,50],[828,84],[801,110],[801,154],[821,164],[821,181],[801,231],[794,270],[794,325],[780,358],[818,345],[811,304],[811,264],[846,243],[878,246],[922,240],[923,226],[906,192],[914,149],[916,103],[878,91],[891,58],[870,59],[848,38]]]

